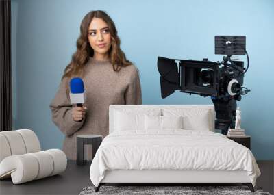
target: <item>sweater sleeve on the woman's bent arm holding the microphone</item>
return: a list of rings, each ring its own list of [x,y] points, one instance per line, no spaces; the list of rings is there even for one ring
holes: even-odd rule
[[[72,105],[69,100],[69,95],[66,92],[66,83],[68,79],[63,79],[58,92],[49,105],[51,109],[51,116],[54,124],[64,133],[64,135],[73,135],[84,124],[84,119],[80,122],[74,121],[72,112]]]

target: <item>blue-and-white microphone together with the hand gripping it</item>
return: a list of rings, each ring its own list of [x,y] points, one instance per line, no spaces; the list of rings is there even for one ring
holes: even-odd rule
[[[81,78],[75,77],[71,79],[71,93],[69,94],[71,104],[73,105],[72,116],[74,121],[82,121],[86,114],[84,107],[84,82]]]

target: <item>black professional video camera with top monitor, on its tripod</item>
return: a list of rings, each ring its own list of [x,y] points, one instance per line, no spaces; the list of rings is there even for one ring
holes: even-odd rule
[[[244,44],[240,42],[243,38]],[[224,42],[226,47],[222,46]],[[229,127],[235,127],[236,101],[250,91],[242,87],[247,70],[244,62],[231,60],[232,54],[242,55],[242,50],[246,53],[245,36],[215,36],[215,53],[229,54],[222,62],[158,57],[162,98],[175,90],[210,96],[216,112],[215,129],[227,135]]]

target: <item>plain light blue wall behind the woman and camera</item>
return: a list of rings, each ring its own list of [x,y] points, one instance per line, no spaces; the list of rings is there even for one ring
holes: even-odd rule
[[[274,1],[73,1],[12,0],[14,129],[33,129],[42,149],[62,148],[49,103],[75,52],[79,25],[90,10],[116,23],[121,48],[140,70],[143,104],[212,104],[175,92],[160,96],[158,56],[222,60],[215,35],[247,36],[250,67],[242,97],[242,127],[256,159],[274,159]],[[272,56],[272,57],[271,57]],[[245,56],[240,59],[245,61]]]

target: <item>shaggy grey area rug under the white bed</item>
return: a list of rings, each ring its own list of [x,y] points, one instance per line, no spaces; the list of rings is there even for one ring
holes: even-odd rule
[[[169,195],[169,194],[263,194],[271,195],[269,192],[263,192],[261,188],[255,188],[255,192],[251,192],[247,186],[101,186],[98,192],[95,187],[84,187],[80,195],[91,194],[153,194],[153,195]]]

